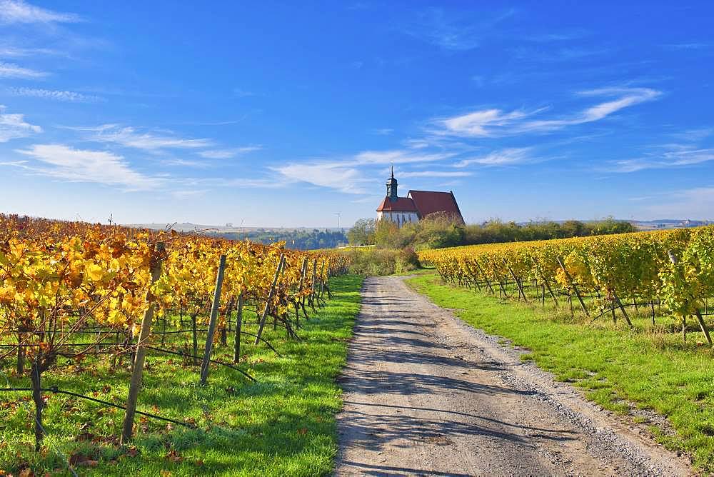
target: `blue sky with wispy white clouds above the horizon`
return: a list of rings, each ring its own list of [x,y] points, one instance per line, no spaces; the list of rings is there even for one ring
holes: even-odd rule
[[[469,222],[714,219],[712,24],[710,1],[0,0],[0,211],[346,225],[393,162]]]

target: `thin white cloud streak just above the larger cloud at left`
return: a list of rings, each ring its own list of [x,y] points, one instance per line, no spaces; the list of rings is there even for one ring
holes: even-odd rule
[[[201,149],[213,146],[210,139],[184,139],[173,133],[139,132],[131,126],[103,124],[89,128],[68,128],[90,133],[88,139],[96,142],[119,144],[124,147],[160,151],[161,149]]]

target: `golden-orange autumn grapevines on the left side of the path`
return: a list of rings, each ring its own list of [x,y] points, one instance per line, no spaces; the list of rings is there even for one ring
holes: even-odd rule
[[[225,345],[230,336],[233,363],[218,364],[240,371],[241,336],[271,347],[261,336],[271,320],[273,328],[299,339],[301,316],[307,319],[323,304],[328,276],[344,273],[345,261],[279,243],[0,215],[0,371],[30,381],[27,388],[4,391],[32,393],[39,449],[42,393],[57,391],[42,387],[43,375],[65,358],[126,359],[131,384],[118,407],[126,409],[121,440],[128,441],[147,349],[200,363],[205,383],[215,363],[213,343]],[[257,317],[255,329],[241,322],[248,309]],[[167,333],[185,333],[186,346],[162,348]]]

